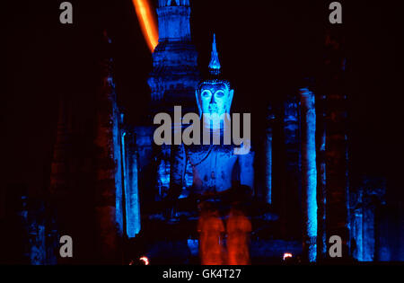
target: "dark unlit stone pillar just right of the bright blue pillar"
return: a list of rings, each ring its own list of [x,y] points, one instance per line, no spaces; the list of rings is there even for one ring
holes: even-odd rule
[[[326,95],[326,237],[342,239],[342,257],[349,256],[347,178],[347,96],[344,94],[345,57],[338,31],[326,36],[324,82]],[[338,260],[335,258],[334,260]],[[340,260],[340,259],[339,259]]]

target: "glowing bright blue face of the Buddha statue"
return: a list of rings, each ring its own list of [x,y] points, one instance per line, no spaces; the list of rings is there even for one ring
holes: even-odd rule
[[[199,114],[230,113],[234,91],[223,82],[203,83],[197,91]]]

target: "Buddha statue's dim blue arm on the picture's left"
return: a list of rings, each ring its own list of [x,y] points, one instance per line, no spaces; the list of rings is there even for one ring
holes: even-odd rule
[[[178,199],[180,197],[185,170],[187,165],[187,156],[183,145],[171,147],[171,178],[169,197]]]

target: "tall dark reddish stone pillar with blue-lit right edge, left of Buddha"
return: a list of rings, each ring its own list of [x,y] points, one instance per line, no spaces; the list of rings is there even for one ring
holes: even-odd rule
[[[104,33],[104,45],[110,40]],[[108,47],[107,47],[108,50]],[[110,58],[101,61],[101,85],[96,97],[95,216],[101,263],[118,263],[123,230],[122,162],[119,110]]]

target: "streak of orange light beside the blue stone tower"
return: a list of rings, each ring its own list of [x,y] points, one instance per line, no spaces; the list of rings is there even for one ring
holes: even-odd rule
[[[159,31],[152,7],[148,0],[132,0],[132,2],[135,5],[137,19],[139,19],[147,46],[153,53],[159,43]]]

